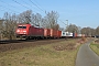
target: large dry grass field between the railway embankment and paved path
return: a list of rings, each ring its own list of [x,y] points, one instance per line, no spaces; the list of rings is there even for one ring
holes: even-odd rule
[[[0,53],[0,66],[75,66],[78,48],[57,51],[56,45],[76,43],[64,41]]]

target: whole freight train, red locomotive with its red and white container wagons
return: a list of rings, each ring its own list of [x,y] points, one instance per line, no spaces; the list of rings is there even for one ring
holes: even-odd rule
[[[61,38],[77,37],[77,33],[63,32],[53,29],[35,28],[31,24],[19,24],[15,31],[16,37],[23,38]],[[82,36],[81,34],[79,36]]]

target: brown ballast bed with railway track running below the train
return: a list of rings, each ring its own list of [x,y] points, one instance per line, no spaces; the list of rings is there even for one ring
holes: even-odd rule
[[[45,45],[51,43],[57,43],[61,41],[66,41],[65,38],[58,38],[58,40],[12,40],[12,41],[0,41],[0,53],[12,51],[12,50],[19,50],[24,47],[35,47],[37,45]]]

